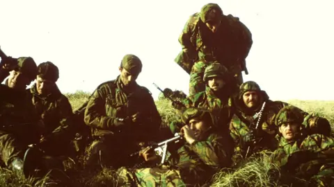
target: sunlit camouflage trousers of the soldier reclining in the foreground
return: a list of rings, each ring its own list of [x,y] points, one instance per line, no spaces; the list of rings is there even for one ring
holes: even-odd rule
[[[118,170],[119,186],[186,186],[179,170],[167,166],[141,169],[120,168]]]

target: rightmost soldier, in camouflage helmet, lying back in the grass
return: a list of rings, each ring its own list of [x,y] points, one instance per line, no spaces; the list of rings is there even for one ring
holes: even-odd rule
[[[275,119],[280,144],[272,161],[290,179],[291,176],[305,179],[308,183],[305,186],[334,186],[334,139],[301,131],[303,121],[300,109],[292,106],[280,109]]]

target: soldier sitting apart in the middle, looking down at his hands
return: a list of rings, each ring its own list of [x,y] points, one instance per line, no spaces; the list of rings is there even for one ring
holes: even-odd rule
[[[136,55],[125,55],[116,80],[104,82],[90,96],[84,121],[92,128],[88,166],[96,163],[132,165],[127,157],[146,141],[159,137],[161,116],[150,91],[136,83],[142,63]]]

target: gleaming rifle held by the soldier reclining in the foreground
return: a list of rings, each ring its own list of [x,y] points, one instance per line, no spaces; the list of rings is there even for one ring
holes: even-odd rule
[[[173,138],[167,139],[165,141],[161,141],[160,143],[154,143],[152,145],[150,145],[149,147],[151,149],[154,149],[155,154],[161,156],[161,164],[164,164],[166,161],[166,154],[167,154],[167,147],[168,147],[168,143],[177,143],[178,141],[180,141],[183,138],[182,134],[179,133],[175,133]],[[138,152],[134,152],[132,154],[130,154],[130,157],[133,157],[134,155],[139,154],[141,151]],[[145,161],[144,161],[145,163]],[[142,165],[142,164],[140,164]]]

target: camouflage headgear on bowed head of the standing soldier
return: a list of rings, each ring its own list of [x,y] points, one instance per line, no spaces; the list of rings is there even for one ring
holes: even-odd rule
[[[223,10],[216,3],[208,3],[200,10],[200,19],[203,23],[208,21],[218,22],[221,20]]]

